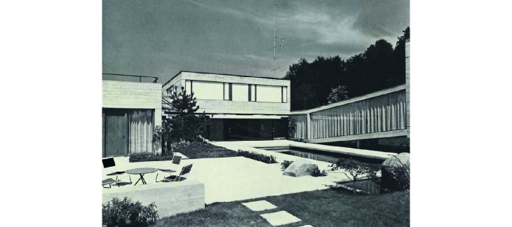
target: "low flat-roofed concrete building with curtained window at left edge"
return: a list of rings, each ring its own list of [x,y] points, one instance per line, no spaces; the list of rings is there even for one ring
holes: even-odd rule
[[[102,81],[102,156],[151,152],[161,125],[161,83]]]

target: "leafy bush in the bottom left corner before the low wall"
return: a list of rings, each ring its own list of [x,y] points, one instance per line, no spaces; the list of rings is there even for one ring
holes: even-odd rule
[[[112,201],[102,205],[102,223],[104,226],[149,226],[156,222],[159,215],[156,205],[151,202],[143,206],[140,202],[133,202],[130,198],[113,198]]]

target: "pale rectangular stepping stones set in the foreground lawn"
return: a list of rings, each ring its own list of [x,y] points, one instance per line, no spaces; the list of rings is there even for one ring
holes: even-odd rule
[[[248,207],[250,210],[259,212],[267,209],[276,209],[277,207],[266,200],[259,200],[255,202],[243,202],[242,205]],[[292,214],[285,211],[272,212],[267,214],[260,214],[262,218],[267,220],[272,226],[281,226],[289,223],[295,223],[302,221],[301,219],[293,216]],[[313,227],[311,225],[300,226],[300,227]]]

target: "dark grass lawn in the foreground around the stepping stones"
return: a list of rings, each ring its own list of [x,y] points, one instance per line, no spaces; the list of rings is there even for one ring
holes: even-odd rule
[[[267,200],[278,208],[253,212],[242,202]],[[291,226],[409,226],[410,194],[353,195],[340,188],[270,196],[206,205],[205,209],[177,214],[155,226],[271,226],[260,214],[286,211],[302,221]]]

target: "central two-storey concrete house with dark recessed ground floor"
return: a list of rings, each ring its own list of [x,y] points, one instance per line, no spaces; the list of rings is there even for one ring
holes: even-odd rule
[[[198,112],[210,116],[209,139],[257,140],[286,137],[290,115],[290,81],[276,78],[180,71],[162,87],[194,92]],[[177,88],[177,89],[175,89]]]

